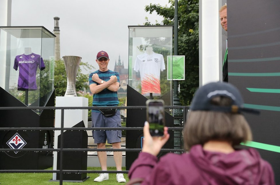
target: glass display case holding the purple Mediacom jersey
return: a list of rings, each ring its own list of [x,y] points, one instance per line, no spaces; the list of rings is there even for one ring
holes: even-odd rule
[[[45,106],[54,90],[55,37],[43,26],[0,27],[0,87],[26,106]]]

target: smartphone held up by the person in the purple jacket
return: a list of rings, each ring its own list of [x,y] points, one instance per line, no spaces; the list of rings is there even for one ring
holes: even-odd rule
[[[165,126],[164,101],[147,100],[146,105],[151,136],[163,136],[163,127]]]

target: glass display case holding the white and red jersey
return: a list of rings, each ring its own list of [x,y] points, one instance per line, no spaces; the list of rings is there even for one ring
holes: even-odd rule
[[[164,99],[165,105],[172,105],[172,79],[167,79],[172,69],[167,67],[167,56],[172,56],[173,26],[128,28],[128,85],[149,99]]]

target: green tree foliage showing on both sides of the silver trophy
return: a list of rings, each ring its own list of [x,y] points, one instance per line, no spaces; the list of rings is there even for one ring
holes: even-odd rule
[[[86,70],[92,70],[94,67],[88,63],[81,62],[76,77],[76,90],[88,88],[88,75],[82,73],[83,67]],[[62,60],[55,61],[54,65],[54,88],[56,89],[56,96],[64,96],[67,87],[67,77],[65,65]]]

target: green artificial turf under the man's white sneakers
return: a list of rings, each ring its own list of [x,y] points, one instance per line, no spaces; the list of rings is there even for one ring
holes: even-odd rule
[[[46,170],[52,170],[48,168]],[[101,170],[100,167],[88,167],[87,170]],[[116,167],[108,167],[107,170],[116,170]],[[123,167],[122,170],[125,170]],[[93,182],[94,178],[98,177],[98,174],[89,174],[87,176],[90,178],[84,182],[63,182],[65,185],[88,185],[88,184],[126,184],[118,183],[116,179],[116,174],[109,174],[109,180],[104,180],[103,182]],[[123,174],[124,178],[128,182],[127,174]],[[49,182],[52,179],[52,173],[0,173],[0,185],[57,185],[59,182]]]

